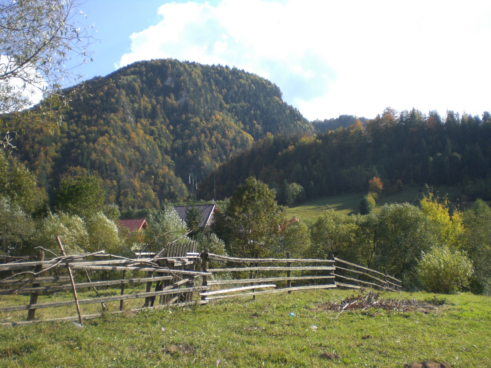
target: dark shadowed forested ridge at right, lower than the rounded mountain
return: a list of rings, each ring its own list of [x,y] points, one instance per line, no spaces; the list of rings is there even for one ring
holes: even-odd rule
[[[229,196],[256,176],[281,192],[300,184],[307,198],[366,191],[381,177],[387,188],[404,184],[453,185],[469,199],[491,200],[491,115],[449,111],[444,120],[416,109],[387,108],[366,126],[327,131],[315,138],[270,136],[211,174],[200,195]]]

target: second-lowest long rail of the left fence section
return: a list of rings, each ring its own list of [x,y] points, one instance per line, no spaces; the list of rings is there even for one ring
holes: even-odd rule
[[[136,294],[105,296],[103,298],[79,299],[78,302],[79,302],[79,304],[106,303],[106,302],[112,302],[112,301],[116,301],[116,300],[139,299],[139,298],[145,298],[148,296],[175,294],[176,292],[203,291],[206,289],[207,289],[206,287],[169,289],[169,290],[163,290],[163,291],[140,292],[140,293],[136,293]],[[29,309],[55,308],[55,307],[64,307],[64,306],[68,306],[68,305],[75,305],[75,301],[74,300],[66,300],[66,301],[62,301],[62,302],[53,302],[53,303],[43,303],[43,304],[34,304],[34,305],[27,304],[27,305],[20,305],[20,306],[2,307],[2,308],[0,308],[0,312],[27,311]]]

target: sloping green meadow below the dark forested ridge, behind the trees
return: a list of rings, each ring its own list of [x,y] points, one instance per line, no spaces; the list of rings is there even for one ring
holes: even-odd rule
[[[407,186],[400,194],[383,195],[377,201],[375,211],[385,204],[391,203],[417,203],[426,192],[424,186]],[[456,189],[452,187],[436,187],[435,194],[453,198]],[[322,211],[333,209],[344,214],[358,213],[360,200],[365,193],[349,193],[332,197],[320,198],[312,201],[305,201],[299,205],[292,206],[285,210],[287,219],[297,216],[299,219],[315,219]]]

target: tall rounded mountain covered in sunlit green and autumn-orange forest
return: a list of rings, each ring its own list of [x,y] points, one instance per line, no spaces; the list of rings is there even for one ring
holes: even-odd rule
[[[109,202],[160,208],[187,196],[190,170],[201,178],[268,132],[313,133],[276,85],[235,68],[141,61],[84,84],[90,95],[57,111],[60,126],[40,116],[17,129],[18,155],[48,192],[80,167],[100,175]]]

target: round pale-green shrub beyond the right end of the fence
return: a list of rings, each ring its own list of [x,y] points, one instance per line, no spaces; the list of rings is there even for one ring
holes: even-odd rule
[[[460,251],[447,246],[432,248],[417,265],[417,275],[423,288],[430,292],[452,294],[468,287],[472,263]]]

